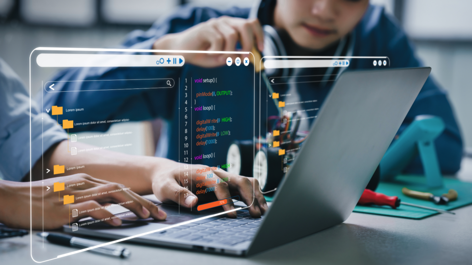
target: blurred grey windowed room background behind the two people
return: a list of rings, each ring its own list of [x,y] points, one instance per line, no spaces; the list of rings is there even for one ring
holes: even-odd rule
[[[253,0],[0,0],[0,57],[29,86],[36,47],[112,48],[133,29],[146,30],[179,5],[226,9]],[[371,0],[405,28],[417,54],[449,92],[465,146],[472,153],[472,1]],[[394,60],[395,58],[390,58]],[[47,71],[47,70],[45,70]],[[42,73],[52,75],[53,73]],[[38,89],[32,88],[34,96]],[[145,129],[143,129],[146,131]],[[140,148],[140,149],[139,149]],[[152,153],[146,146],[137,154]]]

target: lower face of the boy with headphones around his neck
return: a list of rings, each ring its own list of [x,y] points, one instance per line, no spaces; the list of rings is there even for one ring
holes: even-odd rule
[[[296,44],[319,50],[348,34],[368,5],[369,0],[277,0],[274,21]]]

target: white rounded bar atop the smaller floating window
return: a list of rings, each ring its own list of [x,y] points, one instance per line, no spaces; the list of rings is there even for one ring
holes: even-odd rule
[[[266,60],[264,67],[274,68],[324,68],[324,67],[347,67],[349,60]]]

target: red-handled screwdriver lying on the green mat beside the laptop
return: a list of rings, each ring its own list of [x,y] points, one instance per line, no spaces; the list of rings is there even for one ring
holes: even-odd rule
[[[364,189],[364,192],[362,193],[362,196],[360,196],[358,204],[360,205],[373,204],[373,205],[378,205],[378,206],[386,205],[386,206],[390,206],[392,209],[397,209],[397,207],[399,207],[400,204],[403,204],[403,205],[413,206],[417,208],[433,210],[436,212],[456,214],[455,212],[450,212],[450,211],[445,211],[445,210],[436,209],[432,207],[426,207],[422,205],[402,202],[400,201],[398,196],[387,196],[385,194],[372,191],[370,189]]]

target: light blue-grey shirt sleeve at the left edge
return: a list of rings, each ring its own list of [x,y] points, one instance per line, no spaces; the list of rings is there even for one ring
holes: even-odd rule
[[[30,166],[67,133],[41,113],[13,70],[0,58],[0,171],[4,180],[21,181]]]

